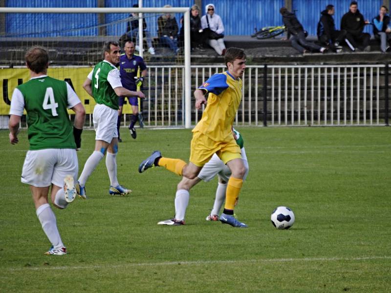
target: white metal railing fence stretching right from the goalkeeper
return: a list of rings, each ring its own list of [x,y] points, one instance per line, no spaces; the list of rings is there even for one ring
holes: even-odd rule
[[[235,125],[388,125],[385,68],[385,64],[249,65],[242,77]],[[221,65],[192,65],[192,90],[224,70]],[[184,126],[183,79],[183,66],[149,67],[143,107],[146,126]],[[202,110],[192,102],[192,125]]]

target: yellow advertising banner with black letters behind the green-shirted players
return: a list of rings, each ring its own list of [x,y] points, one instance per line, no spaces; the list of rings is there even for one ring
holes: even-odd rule
[[[83,88],[83,83],[92,68],[88,67],[53,67],[48,68],[47,75],[59,80],[66,81],[72,86],[80,101],[86,108],[87,114],[92,114],[95,101]],[[8,115],[11,104],[12,93],[19,84],[25,83],[30,79],[30,73],[27,68],[0,68],[0,83],[2,89],[2,99],[0,99],[0,115]],[[70,114],[72,110],[68,110]],[[123,113],[131,114],[129,103],[124,105]]]

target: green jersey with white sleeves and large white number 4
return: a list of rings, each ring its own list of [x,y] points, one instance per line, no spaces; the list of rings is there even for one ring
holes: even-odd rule
[[[23,116],[26,109],[30,150],[76,148],[67,108],[78,103],[69,84],[42,75],[15,88],[10,115]]]

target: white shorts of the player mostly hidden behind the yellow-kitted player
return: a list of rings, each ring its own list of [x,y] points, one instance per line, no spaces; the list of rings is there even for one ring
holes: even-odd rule
[[[244,147],[242,147],[240,151],[244,167],[246,168],[246,173],[243,177],[243,180],[245,180],[248,174],[247,156]],[[209,162],[206,163],[204,167],[202,167],[197,177],[205,182],[208,182],[211,181],[216,175],[218,175],[222,180],[228,182],[229,177],[231,176],[231,170],[223,163],[223,161],[220,160],[217,154],[214,154]]]

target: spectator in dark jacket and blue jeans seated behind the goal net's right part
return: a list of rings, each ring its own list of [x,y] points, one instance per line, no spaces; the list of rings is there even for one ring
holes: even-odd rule
[[[172,7],[164,5],[163,8]],[[157,35],[163,45],[167,45],[174,53],[179,53],[178,48],[178,23],[171,13],[164,14],[157,19]]]

